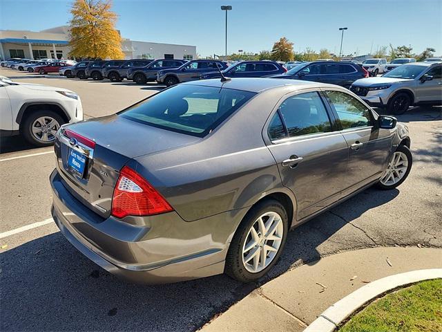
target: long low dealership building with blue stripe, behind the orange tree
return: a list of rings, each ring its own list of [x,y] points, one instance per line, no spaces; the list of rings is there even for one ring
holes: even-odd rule
[[[27,59],[68,59],[69,28],[59,26],[47,30],[0,30],[0,57]],[[196,59],[196,46],[137,42],[122,38],[126,59]]]

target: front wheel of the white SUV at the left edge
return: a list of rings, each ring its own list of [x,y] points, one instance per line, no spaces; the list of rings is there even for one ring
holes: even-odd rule
[[[46,130],[45,136],[45,129],[39,130],[38,128],[42,127],[42,122],[48,125],[50,124],[51,120],[55,120],[55,124],[53,127]],[[27,140],[30,144],[37,147],[48,147],[55,142],[55,133],[61,124],[64,123],[64,119],[61,118],[58,113],[48,109],[42,109],[40,111],[32,112],[26,116],[26,118],[24,118],[20,124],[20,131],[23,138],[25,138],[25,140]]]

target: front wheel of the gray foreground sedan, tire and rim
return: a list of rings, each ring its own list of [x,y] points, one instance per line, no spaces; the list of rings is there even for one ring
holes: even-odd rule
[[[412,165],[413,156],[410,149],[405,145],[399,145],[381,179],[376,183],[376,187],[381,190],[391,190],[398,187],[410,174]]]

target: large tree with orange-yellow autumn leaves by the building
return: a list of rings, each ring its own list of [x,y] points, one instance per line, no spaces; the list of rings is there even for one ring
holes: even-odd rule
[[[111,1],[75,0],[70,9],[71,57],[123,59],[122,37],[115,29],[117,15]]]

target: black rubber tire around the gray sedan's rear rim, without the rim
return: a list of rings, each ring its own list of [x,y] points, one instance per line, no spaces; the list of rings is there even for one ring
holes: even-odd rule
[[[244,241],[247,241],[247,235],[251,227],[256,222],[259,216],[265,212],[276,212],[279,214],[283,225],[283,234],[278,252],[273,257],[271,263],[258,273],[249,272],[244,263],[242,262],[242,247],[244,246]],[[235,235],[229,246],[229,251],[227,252],[226,264],[224,266],[224,273],[237,279],[240,282],[255,282],[264,276],[278,261],[282,250],[284,249],[285,241],[287,239],[287,232],[289,231],[289,222],[287,218],[287,212],[281,203],[273,199],[261,201],[257,205],[253,206],[249,212],[247,212],[244,219],[242,219],[238,230],[236,230]]]

